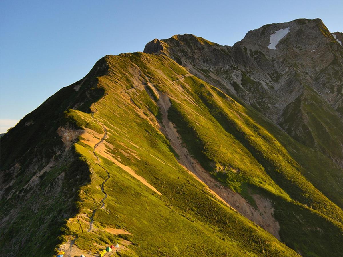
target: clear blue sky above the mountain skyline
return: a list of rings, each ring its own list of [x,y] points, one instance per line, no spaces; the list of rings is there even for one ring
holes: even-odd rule
[[[0,133],[106,54],[191,33],[233,45],[264,24],[320,18],[343,30],[343,0],[0,0]]]

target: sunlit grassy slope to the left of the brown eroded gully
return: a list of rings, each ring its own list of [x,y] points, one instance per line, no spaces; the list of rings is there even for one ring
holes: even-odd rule
[[[170,78],[176,79],[178,74],[165,68],[165,65],[171,65],[184,74],[185,70],[169,58],[148,57],[141,53],[109,56],[107,60],[110,63],[109,73],[99,78],[105,88],[105,97],[93,105],[92,108],[97,110],[94,118],[81,112],[73,113],[73,117],[84,119],[83,124],[90,121],[103,123],[109,135],[106,142],[113,146],[107,151],[143,176],[162,196],[110,160],[101,158],[101,162],[97,163],[92,148],[77,143],[77,151],[87,159],[92,170],[92,183],[80,191],[82,200],[78,205],[81,213],[90,217],[92,210],[99,207],[99,201],[104,196],[100,184],[106,179],[105,170],[110,173],[110,179],[105,184],[108,194],[105,208],[96,212],[93,232],[86,232],[89,228],[86,217],[79,216],[68,221],[68,233],[78,234],[75,245],[83,250],[96,251],[98,247],[93,245],[94,242],[105,245],[120,241],[116,236],[100,230],[109,227],[132,233],[125,236],[133,243],[129,246],[128,255],[294,255],[292,250],[269,233],[218,203],[201,183],[178,164],[169,142],[157,128],[153,115],[157,106],[144,87],[128,91],[128,94],[122,92],[138,85],[140,79],[134,74],[139,73],[143,83],[147,78],[145,76],[149,76],[154,85],[168,83],[172,86]],[[158,70],[147,70],[159,65],[170,78]],[[137,112],[137,106],[144,114]],[[155,115],[158,116],[158,112]],[[81,228],[78,222],[82,224]]]

